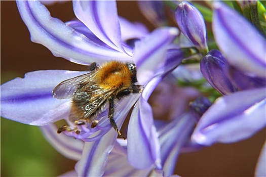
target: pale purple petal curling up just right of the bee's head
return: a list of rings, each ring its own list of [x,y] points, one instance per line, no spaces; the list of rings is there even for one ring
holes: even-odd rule
[[[167,46],[174,40],[176,28],[159,28],[135,43],[133,60],[137,66],[137,79],[145,85],[166,62]],[[160,37],[158,37],[160,36]]]

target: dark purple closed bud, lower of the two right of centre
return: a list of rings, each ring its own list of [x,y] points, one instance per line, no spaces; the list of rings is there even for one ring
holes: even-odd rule
[[[238,91],[227,76],[229,64],[220,51],[211,50],[200,63],[201,72],[206,80],[222,95]]]

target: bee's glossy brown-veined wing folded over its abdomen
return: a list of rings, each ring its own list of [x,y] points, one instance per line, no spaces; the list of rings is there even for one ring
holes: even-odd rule
[[[89,119],[92,121],[97,113],[101,112],[106,104],[106,100],[116,91],[116,89],[102,89],[96,85],[91,85],[86,92],[86,98],[84,97],[83,109],[74,106],[74,110],[69,115],[69,120],[74,122],[79,119]],[[84,112],[84,110],[86,110]],[[80,115],[80,116],[79,116]],[[81,116],[82,115],[82,116]]]

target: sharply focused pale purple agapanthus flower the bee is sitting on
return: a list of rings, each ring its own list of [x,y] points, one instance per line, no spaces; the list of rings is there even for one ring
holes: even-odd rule
[[[83,65],[110,60],[136,64],[137,80],[143,91],[123,99],[116,107],[114,118],[120,128],[136,103],[128,125],[128,162],[139,169],[154,165],[162,168],[160,143],[147,100],[156,85],[183,58],[180,51],[169,49],[178,30],[159,28],[148,34],[140,24],[119,18],[116,3],[112,1],[73,1],[79,20],[67,23],[51,17],[38,1],[18,1],[17,6],[31,40],[41,43],[55,56]],[[129,36],[139,39],[134,49],[126,43]],[[27,73],[23,79],[15,78],[1,86],[1,115],[31,125],[46,125],[60,119],[68,121],[71,99],[57,100],[51,92],[61,81],[85,73],[46,70]],[[117,132],[111,129],[106,111],[100,116],[105,118],[99,119],[95,128],[79,125],[79,135],[65,131],[66,135],[87,142],[75,166],[79,176],[102,175],[108,154],[117,141]],[[71,122],[68,123],[71,126]],[[90,137],[92,135],[95,136]]]

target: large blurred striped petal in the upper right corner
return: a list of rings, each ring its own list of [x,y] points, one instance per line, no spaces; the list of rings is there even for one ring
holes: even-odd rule
[[[232,66],[265,77],[265,39],[244,17],[215,3],[212,25],[217,45]]]

